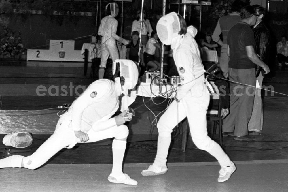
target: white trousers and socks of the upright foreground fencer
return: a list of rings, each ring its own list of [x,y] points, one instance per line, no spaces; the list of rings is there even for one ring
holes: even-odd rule
[[[232,162],[219,144],[211,140],[207,135],[206,113],[210,100],[209,92],[206,88],[203,89],[202,96],[201,93],[199,94],[199,91],[197,92],[195,93],[193,90],[180,99],[179,103],[174,100],[170,104],[157,124],[159,138],[167,138],[171,134],[172,129],[187,116],[194,144],[199,149],[206,150],[213,155],[221,166],[231,165]],[[195,97],[195,94],[197,97]],[[162,156],[162,158],[165,157],[167,159],[168,148],[167,146],[161,146],[158,146],[156,157]],[[155,158],[155,161],[161,161],[161,159],[158,160],[158,158]]]

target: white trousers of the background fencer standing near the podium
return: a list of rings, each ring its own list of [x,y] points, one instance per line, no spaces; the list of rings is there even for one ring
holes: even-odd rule
[[[104,38],[104,36],[102,37]],[[107,59],[111,56],[112,61],[119,59],[119,52],[113,38],[107,39],[105,43],[101,44],[101,63],[99,67],[106,68]]]

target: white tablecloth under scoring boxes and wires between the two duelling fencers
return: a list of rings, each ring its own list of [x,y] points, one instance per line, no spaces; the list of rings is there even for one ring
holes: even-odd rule
[[[166,92],[167,88],[167,92]],[[137,96],[144,96],[144,97],[169,97],[173,98],[175,96],[175,90],[177,89],[176,84],[171,85],[162,85],[161,88],[158,85],[152,84],[150,87],[150,83],[143,83],[141,82],[140,85],[137,87],[136,95]],[[161,90],[160,90],[161,89]],[[172,95],[171,95],[171,92]]]

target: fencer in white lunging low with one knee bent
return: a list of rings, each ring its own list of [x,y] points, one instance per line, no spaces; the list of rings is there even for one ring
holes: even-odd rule
[[[122,172],[122,161],[126,149],[128,127],[123,125],[132,119],[130,112],[111,118],[119,108],[119,96],[134,88],[138,80],[137,65],[130,60],[116,60],[113,72],[117,75],[120,66],[120,76],[115,82],[101,79],[93,82],[63,114],[55,132],[32,155],[27,157],[12,155],[0,160],[0,168],[24,167],[34,170],[48,161],[62,148],[72,148],[76,143],[96,142],[106,138],[114,138],[112,142],[113,166],[108,180],[113,183],[137,185]],[[123,81],[124,80],[124,81]],[[135,100],[131,98],[132,101]],[[127,105],[131,104],[128,103]],[[128,106],[122,106],[128,108]]]

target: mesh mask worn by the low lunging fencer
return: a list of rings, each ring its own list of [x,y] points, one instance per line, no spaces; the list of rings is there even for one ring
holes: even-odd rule
[[[118,70],[120,71],[120,77],[125,79],[124,84],[122,83],[123,80],[120,81],[121,86],[123,88],[122,93],[124,93],[125,95],[128,95],[128,90],[133,89],[138,82],[137,65],[136,63],[134,63],[134,61],[131,61],[131,60],[116,59],[112,65],[113,76],[115,76],[115,73],[118,73]],[[116,77],[116,78],[120,78],[120,77]]]

